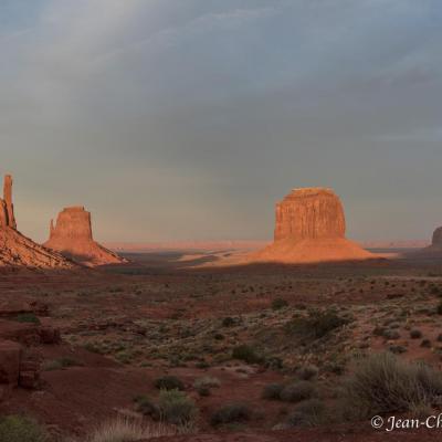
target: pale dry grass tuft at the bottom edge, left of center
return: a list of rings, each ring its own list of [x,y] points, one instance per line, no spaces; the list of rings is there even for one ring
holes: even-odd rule
[[[127,418],[116,418],[97,427],[86,440],[87,442],[136,442],[173,434],[177,434],[176,429],[161,423],[144,425]]]

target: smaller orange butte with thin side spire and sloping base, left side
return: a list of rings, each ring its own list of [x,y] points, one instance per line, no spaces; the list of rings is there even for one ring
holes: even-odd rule
[[[55,225],[51,220],[50,238],[43,245],[87,266],[126,262],[94,241],[91,213],[84,207],[65,208]]]

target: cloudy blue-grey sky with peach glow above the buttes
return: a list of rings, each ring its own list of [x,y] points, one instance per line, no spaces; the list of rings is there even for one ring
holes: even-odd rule
[[[19,230],[271,239],[292,188],[348,236],[442,225],[440,0],[1,0],[0,172]]]

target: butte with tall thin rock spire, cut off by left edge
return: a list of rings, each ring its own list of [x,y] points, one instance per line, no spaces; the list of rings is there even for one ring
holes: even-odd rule
[[[0,198],[0,266],[70,269],[74,264],[61,254],[36,244],[17,230],[12,203],[12,177],[4,177],[3,199]]]

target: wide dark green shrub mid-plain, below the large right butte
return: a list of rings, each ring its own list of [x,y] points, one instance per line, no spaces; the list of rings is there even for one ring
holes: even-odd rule
[[[348,324],[347,318],[337,315],[333,309],[312,311],[308,316],[292,319],[286,325],[290,335],[318,339]]]

